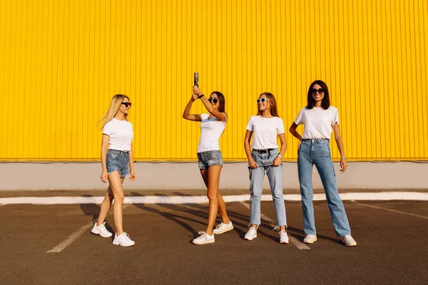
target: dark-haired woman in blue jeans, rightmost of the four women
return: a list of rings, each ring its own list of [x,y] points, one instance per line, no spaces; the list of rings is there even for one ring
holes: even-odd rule
[[[303,135],[297,133],[297,125],[305,125]],[[296,120],[290,126],[290,133],[300,142],[298,145],[297,167],[299,170],[300,194],[302,196],[302,212],[304,230],[307,236],[304,242],[312,244],[317,240],[315,231],[314,207],[312,203],[312,167],[317,167],[322,185],[327,197],[333,226],[338,237],[348,247],[354,247],[357,242],[351,236],[350,224],[345,207],[337,190],[335,168],[330,152],[330,134],[334,131],[337,147],[340,151],[340,167],[342,172],[347,170],[345,147],[339,127],[339,112],[330,106],[330,95],[327,84],[314,81],[307,91],[307,106],[302,108]]]

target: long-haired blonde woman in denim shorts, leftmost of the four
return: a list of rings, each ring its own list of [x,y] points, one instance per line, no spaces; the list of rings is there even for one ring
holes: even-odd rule
[[[121,247],[131,247],[135,244],[126,232],[123,232],[122,208],[123,187],[122,183],[126,175],[131,175],[129,180],[136,180],[136,172],[133,165],[133,127],[128,122],[128,112],[131,102],[126,95],[117,94],[111,100],[110,108],[101,118],[103,122],[103,140],[101,142],[101,181],[108,181],[106,197],[101,204],[98,220],[93,225],[91,232],[101,237],[111,237],[111,232],[105,227],[106,215],[113,204],[113,217],[116,233],[113,244]],[[99,124],[98,123],[98,124]]]

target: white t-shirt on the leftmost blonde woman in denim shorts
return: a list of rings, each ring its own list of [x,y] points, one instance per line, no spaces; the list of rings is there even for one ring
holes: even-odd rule
[[[130,151],[133,139],[132,123],[127,120],[118,120],[113,118],[106,123],[103,128],[103,134],[109,135],[108,149]]]

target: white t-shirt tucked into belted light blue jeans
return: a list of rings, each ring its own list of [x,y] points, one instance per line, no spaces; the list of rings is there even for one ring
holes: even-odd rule
[[[284,123],[281,118],[263,118],[261,115],[250,117],[247,130],[253,132],[251,147],[255,150],[278,148],[277,135],[285,133]]]

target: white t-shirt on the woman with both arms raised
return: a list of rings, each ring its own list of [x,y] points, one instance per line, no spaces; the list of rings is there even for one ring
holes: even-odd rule
[[[209,116],[210,114],[200,114],[202,122],[200,122],[198,152],[220,150],[218,140],[226,128],[228,118],[226,117],[225,122],[222,122],[221,120],[218,120],[218,118],[215,118],[215,116],[208,120]]]

